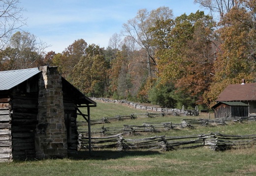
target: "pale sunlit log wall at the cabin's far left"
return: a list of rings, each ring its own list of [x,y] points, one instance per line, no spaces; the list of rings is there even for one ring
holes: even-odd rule
[[[9,99],[0,98],[0,162],[12,159],[9,112]]]

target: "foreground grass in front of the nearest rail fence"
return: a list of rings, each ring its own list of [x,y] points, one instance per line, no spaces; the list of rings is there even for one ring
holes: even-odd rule
[[[255,151],[80,151],[76,159],[0,163],[0,176],[254,176]]]

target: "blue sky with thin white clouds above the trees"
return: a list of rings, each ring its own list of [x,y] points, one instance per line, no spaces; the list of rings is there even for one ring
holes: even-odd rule
[[[51,45],[47,52],[56,53],[77,39],[106,48],[109,38],[142,8],[166,6],[174,16],[205,10],[193,0],[20,0],[20,5],[28,18],[22,29]]]

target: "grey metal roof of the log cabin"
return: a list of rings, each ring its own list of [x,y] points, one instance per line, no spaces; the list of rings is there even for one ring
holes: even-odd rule
[[[0,72],[0,90],[9,90],[40,72],[38,68]]]

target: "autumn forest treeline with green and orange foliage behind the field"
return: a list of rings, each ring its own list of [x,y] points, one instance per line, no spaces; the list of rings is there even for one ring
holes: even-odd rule
[[[107,48],[77,39],[62,53],[25,31],[0,50],[0,71],[58,66],[89,97],[211,107],[228,85],[256,82],[256,0],[194,0],[206,9],[174,17],[138,10]]]

